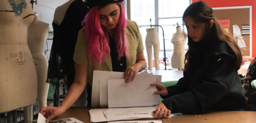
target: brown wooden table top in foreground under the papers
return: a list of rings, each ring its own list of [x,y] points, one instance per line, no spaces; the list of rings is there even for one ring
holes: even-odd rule
[[[90,123],[88,107],[71,107],[55,120],[74,117],[84,123]],[[144,119],[161,120],[162,123],[256,123],[256,112],[249,111],[206,111],[205,114],[173,114],[172,118]],[[104,122],[106,123],[106,122]]]

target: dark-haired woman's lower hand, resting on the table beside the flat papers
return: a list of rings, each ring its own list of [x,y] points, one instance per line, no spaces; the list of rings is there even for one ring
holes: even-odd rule
[[[153,111],[155,113],[155,118],[165,118],[171,115],[171,111],[165,106],[165,104],[161,103],[158,105],[157,109]]]

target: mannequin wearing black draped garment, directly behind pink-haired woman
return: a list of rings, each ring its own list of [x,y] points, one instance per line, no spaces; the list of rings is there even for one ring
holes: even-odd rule
[[[75,70],[73,53],[77,35],[82,28],[82,20],[87,10],[88,8],[84,5],[83,0],[69,0],[55,9],[53,20],[54,40],[51,52],[55,51],[62,60],[64,74],[67,75],[67,88],[69,88],[74,81]],[[86,89],[74,105],[87,105]]]

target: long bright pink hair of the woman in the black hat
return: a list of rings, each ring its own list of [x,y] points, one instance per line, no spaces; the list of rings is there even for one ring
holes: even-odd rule
[[[118,3],[117,3],[118,4]],[[125,18],[124,4],[119,2],[120,17],[114,29],[115,43],[117,46],[118,60],[125,55],[128,57],[128,42],[126,39],[127,19]],[[93,65],[100,65],[105,62],[106,56],[110,56],[109,35],[104,26],[100,23],[100,6],[92,7],[82,23],[85,24],[85,38],[88,41],[88,58]]]

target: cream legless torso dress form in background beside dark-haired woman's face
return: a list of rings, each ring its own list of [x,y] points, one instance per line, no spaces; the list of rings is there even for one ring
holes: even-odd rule
[[[174,33],[171,42],[174,44],[174,52],[172,55],[172,68],[184,69],[185,60],[185,43],[187,34],[185,34],[181,26],[176,27],[177,32]]]

